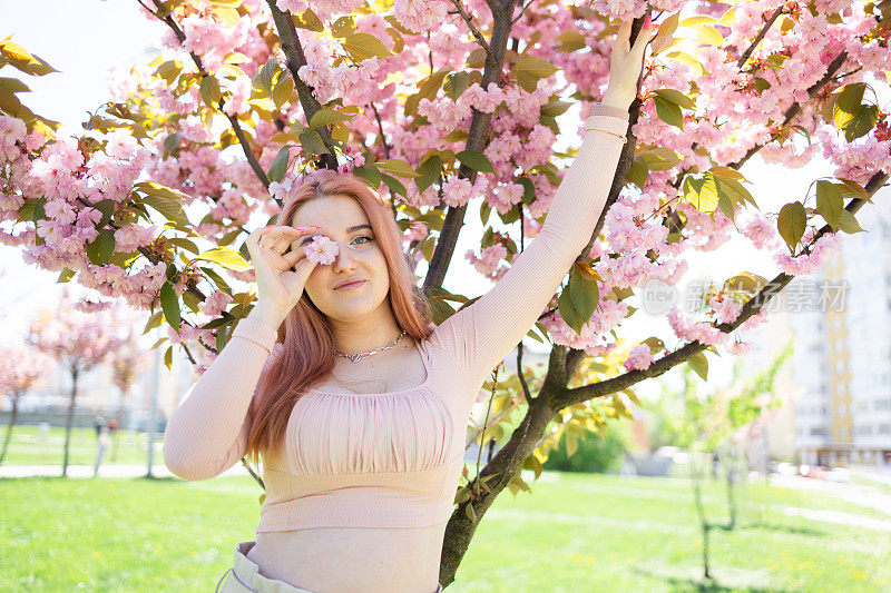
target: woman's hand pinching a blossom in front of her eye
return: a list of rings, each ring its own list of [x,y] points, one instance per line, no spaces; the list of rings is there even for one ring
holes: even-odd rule
[[[254,308],[276,329],[300,300],[306,278],[316,266],[303,249],[292,248],[292,245],[317,228],[263,227],[245,239],[256,273],[257,304]]]

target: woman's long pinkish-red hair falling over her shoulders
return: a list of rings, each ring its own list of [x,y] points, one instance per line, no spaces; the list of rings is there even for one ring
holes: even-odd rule
[[[435,327],[430,304],[414,284],[409,257],[402,250],[402,231],[386,202],[364,181],[351,174],[320,169],[304,178],[282,206],[277,224],[288,225],[297,209],[307,200],[345,195],[364,209],[374,236],[386,259],[390,277],[390,306],[396,324],[417,339],[423,339]],[[254,465],[260,456],[277,455],[284,444],[291,412],[303,393],[321,383],[336,360],[334,336],[329,318],[304,291],[296,306],[278,328],[276,350],[261,374],[248,414],[252,417],[246,456]]]

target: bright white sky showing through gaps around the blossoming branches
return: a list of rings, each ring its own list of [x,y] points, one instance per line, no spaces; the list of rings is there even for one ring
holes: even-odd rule
[[[157,56],[160,36],[165,31],[161,23],[143,17],[134,1],[33,0],[14,2],[14,9],[12,6],[12,0],[0,0],[0,13],[4,17],[0,22],[0,36],[6,38],[12,34],[13,41],[59,70],[46,77],[19,76],[33,91],[19,97],[33,111],[78,129],[87,112],[95,112],[109,97],[109,70],[117,68],[126,71],[131,65],[151,61]],[[46,18],[48,14],[52,18]],[[9,67],[0,72],[0,76],[17,75],[19,72]],[[885,109],[887,100],[884,97],[880,101]],[[578,112],[577,109],[570,109],[565,117],[578,117]],[[575,130],[575,122],[567,129]],[[790,169],[765,164],[756,156],[743,166],[741,172],[751,181],[747,187],[761,209],[775,213],[785,202],[803,199],[811,181],[831,176],[832,170],[832,165],[820,158],[805,167]],[[479,199],[472,201],[468,209],[467,226],[459,238],[456,257],[444,283],[447,289],[471,297],[492,286],[463,259],[468,249],[478,250],[479,247],[482,225],[478,211]],[[490,221],[492,219],[498,220],[496,215],[490,216]],[[868,220],[861,224],[869,229]],[[496,225],[496,229],[503,227]],[[744,270],[767,278],[779,271],[767,254],[758,251],[741,236],[734,236],[714,251],[692,253],[689,271],[681,286],[683,288],[686,281],[697,278],[721,283]],[[425,274],[425,261],[419,265],[417,271],[421,276]],[[0,332],[7,336],[7,340],[20,342],[35,312],[55,306],[63,286],[56,284],[57,277],[58,273],[26,265],[19,249],[0,246],[0,281],[6,280],[0,297]],[[68,286],[76,294],[89,294],[85,289],[78,291],[80,287],[76,283],[69,283]],[[91,296],[96,298],[95,293]],[[654,332],[670,335],[665,333],[667,324],[663,317],[643,310],[628,319],[623,328],[627,335],[637,337],[646,337]],[[150,343],[154,343],[154,337]],[[547,352],[546,345],[529,338],[526,344],[533,352]],[[716,373],[726,375],[728,365],[730,359],[718,360]]]

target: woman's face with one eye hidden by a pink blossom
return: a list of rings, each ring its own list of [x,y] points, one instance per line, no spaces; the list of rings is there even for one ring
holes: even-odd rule
[[[291,226],[320,225],[313,235],[301,237],[291,246],[301,249],[315,235],[324,235],[337,244],[337,256],[330,265],[316,264],[306,279],[306,295],[319,310],[333,319],[349,322],[389,306],[390,276],[378,237],[365,210],[345,195],[313,198],[297,208]],[[335,290],[341,280],[359,276],[359,287]]]

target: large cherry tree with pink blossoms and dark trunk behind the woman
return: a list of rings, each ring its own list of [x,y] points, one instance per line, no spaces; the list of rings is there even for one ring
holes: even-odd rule
[[[151,313],[155,347],[198,372],[253,306],[244,238],[272,224],[301,176],[336,168],[392,206],[404,248],[428,264],[435,322],[472,295],[443,288],[468,217],[484,231],[464,254],[497,280],[541,228],[603,97],[617,19],[659,23],[629,108],[628,142],[606,207],[529,336],[552,345],[533,392],[518,375],[496,409],[522,421],[457,493],[440,582],[453,581],[473,531],[526,467],[585,425],[627,415],[633,387],[712,355],[746,352],[745,332],[795,276],[817,269],[889,171],[888,113],[875,101],[889,60],[888,4],[845,0],[140,0],[167,27],[163,50],[116,80],[111,99],[66,129],[33,113],[18,78],[0,86],[0,238],[26,261]],[[11,38],[0,63],[55,71]],[[584,112],[584,111],[582,111]],[[558,125],[559,118],[559,125]],[[569,118],[569,119],[567,119]],[[570,140],[557,150],[558,136]],[[762,211],[743,166],[755,155],[833,175]],[[771,188],[760,188],[763,192]],[[496,229],[495,218],[503,229]],[[689,257],[734,235],[773,255],[765,278],[728,269],[670,335],[631,337],[623,322],[648,280],[676,284]],[[742,264],[742,263],[740,263]],[[728,266],[737,263],[728,263]],[[239,284],[236,284],[239,283]],[[497,376],[497,375],[496,375]],[[603,398],[606,416],[591,414]],[[545,434],[552,419],[556,429]],[[491,418],[478,439],[501,428]],[[249,467],[248,467],[249,470]],[[253,472],[252,472],[253,473]]]

